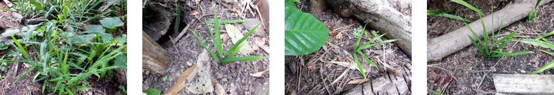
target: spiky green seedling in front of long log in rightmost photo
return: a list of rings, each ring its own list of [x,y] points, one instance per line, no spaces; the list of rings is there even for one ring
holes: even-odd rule
[[[463,2],[463,1],[461,1]],[[471,7],[472,9],[475,8],[471,5],[468,4],[469,7]],[[479,11],[479,9],[474,9],[476,11],[478,11],[479,13],[481,13]],[[492,7],[492,4],[491,4],[491,10],[493,10],[493,7]],[[491,13],[491,15],[493,15]],[[498,38],[498,35],[495,35],[494,34],[494,31],[491,31],[493,32],[491,36],[489,36],[489,33],[488,31],[486,30],[486,27],[485,27],[485,23],[483,22],[483,17],[481,17],[481,15],[479,15],[479,18],[481,19],[481,25],[483,25],[483,31],[484,31],[484,37],[483,37],[483,40],[481,41],[481,39],[478,39],[477,36],[475,34],[475,32],[473,31],[473,29],[471,29],[468,25],[468,23],[464,22],[464,24],[466,25],[466,27],[468,27],[468,29],[471,31],[471,33],[473,34],[473,36],[475,36],[475,39],[478,40],[478,42],[476,43],[474,38],[469,36],[468,34],[466,34],[468,36],[468,38],[471,40],[471,43],[473,43],[473,45],[475,47],[477,47],[477,49],[481,52],[481,54],[483,54],[485,57],[500,57],[500,56],[515,56],[515,55],[522,55],[522,54],[529,54],[529,53],[535,53],[533,51],[524,51],[524,52],[511,52],[511,53],[506,53],[506,52],[501,52],[500,49],[502,49],[502,47],[504,47],[504,45],[506,45],[506,43],[508,43],[508,41],[510,41],[512,39],[512,37],[518,32],[521,30],[518,29],[512,33],[510,33],[509,35],[507,36],[504,36],[504,38],[500,39],[500,40],[497,40]],[[494,16],[491,16],[491,23],[494,24]],[[503,21],[503,20],[502,20]],[[491,25],[493,25],[491,24]],[[502,25],[502,22],[500,23],[500,25]],[[499,29],[499,33],[500,33],[500,30]],[[489,38],[490,37],[490,38]],[[479,46],[481,45],[481,46]],[[496,49],[494,49],[494,46],[497,46],[497,45],[500,45],[498,46]]]

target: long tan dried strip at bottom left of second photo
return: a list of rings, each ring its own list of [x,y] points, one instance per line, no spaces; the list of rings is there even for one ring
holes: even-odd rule
[[[196,65],[193,65],[189,67],[186,71],[181,74],[181,77],[177,80],[175,84],[173,84],[173,87],[171,87],[170,91],[164,93],[164,95],[175,95],[181,91],[185,86],[187,86],[187,82],[191,82],[191,79],[188,79],[189,76],[196,76]],[[187,81],[187,82],[185,82]]]

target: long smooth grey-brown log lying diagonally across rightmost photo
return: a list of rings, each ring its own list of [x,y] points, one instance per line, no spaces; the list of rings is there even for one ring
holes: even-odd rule
[[[544,0],[538,5],[538,7],[551,2],[552,0]],[[527,18],[527,15],[533,10],[533,7],[536,4],[536,1],[526,1],[526,0],[516,0],[514,4],[509,4],[501,10],[494,12],[494,24],[492,24],[491,15],[483,17],[483,22],[489,34],[492,34],[491,31],[496,31],[499,28],[504,28],[514,23],[522,18]],[[500,26],[500,21],[502,21],[502,26]],[[461,21],[460,21],[461,22]],[[492,24],[492,25],[491,25]],[[478,35],[478,39],[483,38],[483,25],[481,24],[481,19],[476,20],[473,23],[468,24],[471,29],[474,30],[475,34]],[[494,27],[494,28],[493,28]],[[466,35],[475,37],[471,34],[471,31],[468,27],[464,26],[458,28],[448,34],[444,34],[437,38],[433,38],[427,41],[427,62],[430,61],[439,61],[444,57],[454,54],[464,47],[471,44],[471,40]],[[488,34],[488,35],[489,35]]]

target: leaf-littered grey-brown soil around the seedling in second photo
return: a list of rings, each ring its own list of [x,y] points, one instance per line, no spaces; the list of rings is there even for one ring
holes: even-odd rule
[[[194,10],[198,10],[200,12],[199,15],[203,14],[213,14],[214,8],[217,9],[217,13],[219,16],[219,20],[240,20],[240,19],[257,19],[261,20],[260,16],[257,12],[255,12],[255,9],[252,10],[253,14],[250,13],[250,10],[244,10],[244,18],[240,18],[239,15],[235,12],[230,12],[229,10],[233,6],[231,3],[216,3],[217,1],[200,1],[198,5],[194,3],[194,1],[186,1],[187,7],[181,8],[182,13],[186,19],[191,19],[194,17],[193,15],[190,15]],[[225,4],[225,5],[222,5]],[[213,7],[215,5],[215,7]],[[213,15],[207,15],[204,18],[207,20],[213,20]],[[196,18],[193,18],[196,19]],[[189,24],[189,20],[186,22],[182,22],[182,24]],[[213,27],[213,24],[209,24],[210,29],[212,29],[212,32],[215,29]],[[249,28],[245,28],[243,23],[235,23],[231,24],[237,29],[239,29],[242,34],[246,34]],[[181,28],[186,27],[186,25],[182,25]],[[262,27],[260,25],[260,27]],[[209,39],[208,37],[208,31],[206,28],[206,24],[204,23],[204,20],[200,20],[199,22],[192,23],[192,26],[190,27],[194,32],[196,32],[201,39]],[[222,32],[225,30],[225,25],[220,24],[220,28]],[[263,29],[263,28],[262,28]],[[268,31],[263,29],[266,34],[268,34]],[[180,30],[179,30],[180,31]],[[174,37],[173,34],[171,34],[173,31],[168,31],[168,35]],[[255,41],[257,40],[258,41]],[[227,36],[227,33],[222,33],[222,40],[223,40],[223,50],[227,50],[230,46],[233,45],[233,42],[229,39],[229,36]],[[248,56],[269,56],[268,51],[265,51],[261,49],[258,45],[265,45],[269,47],[269,36],[268,35],[257,35],[252,34],[250,35],[247,40],[252,49],[254,50],[253,53],[248,54]],[[146,92],[148,88],[157,88],[161,89],[162,93],[165,93],[171,89],[171,87],[176,83],[177,79],[181,76],[181,74],[187,70],[191,65],[196,65],[198,56],[201,54],[201,52],[204,50],[204,48],[198,43],[197,39],[193,36],[193,34],[190,31],[187,31],[187,33],[176,42],[176,45],[173,45],[171,41],[168,40],[168,36],[162,36],[160,40],[158,40],[158,44],[160,44],[164,49],[166,49],[168,52],[171,53],[173,61],[171,62],[170,68],[168,68],[168,74],[167,75],[155,75],[153,73],[150,73],[148,70],[143,69],[143,82],[142,82],[142,91]],[[204,44],[207,45],[210,51],[216,51],[214,47],[212,46],[211,41],[204,41]],[[237,57],[242,57],[244,55],[237,54]],[[267,68],[269,68],[269,57],[266,57],[264,59],[254,60],[254,61],[245,61],[245,62],[231,62],[227,63],[225,65],[221,65],[215,62],[211,57],[208,59],[211,62],[211,76],[212,76],[212,82],[217,82],[223,86],[224,89],[232,89],[234,90],[226,90],[225,92],[228,93],[236,93],[236,94],[267,94],[265,90],[269,88],[269,73],[265,72],[260,77],[252,77],[249,75],[249,73],[256,73],[260,71],[264,71]],[[188,65],[190,64],[190,65]],[[167,80],[163,81],[163,77],[167,76]],[[199,76],[203,75],[197,75],[197,77],[194,80],[197,80]],[[214,84],[215,85],[215,84]],[[186,90],[187,88],[183,88],[178,94],[192,94],[191,92],[188,92]]]

